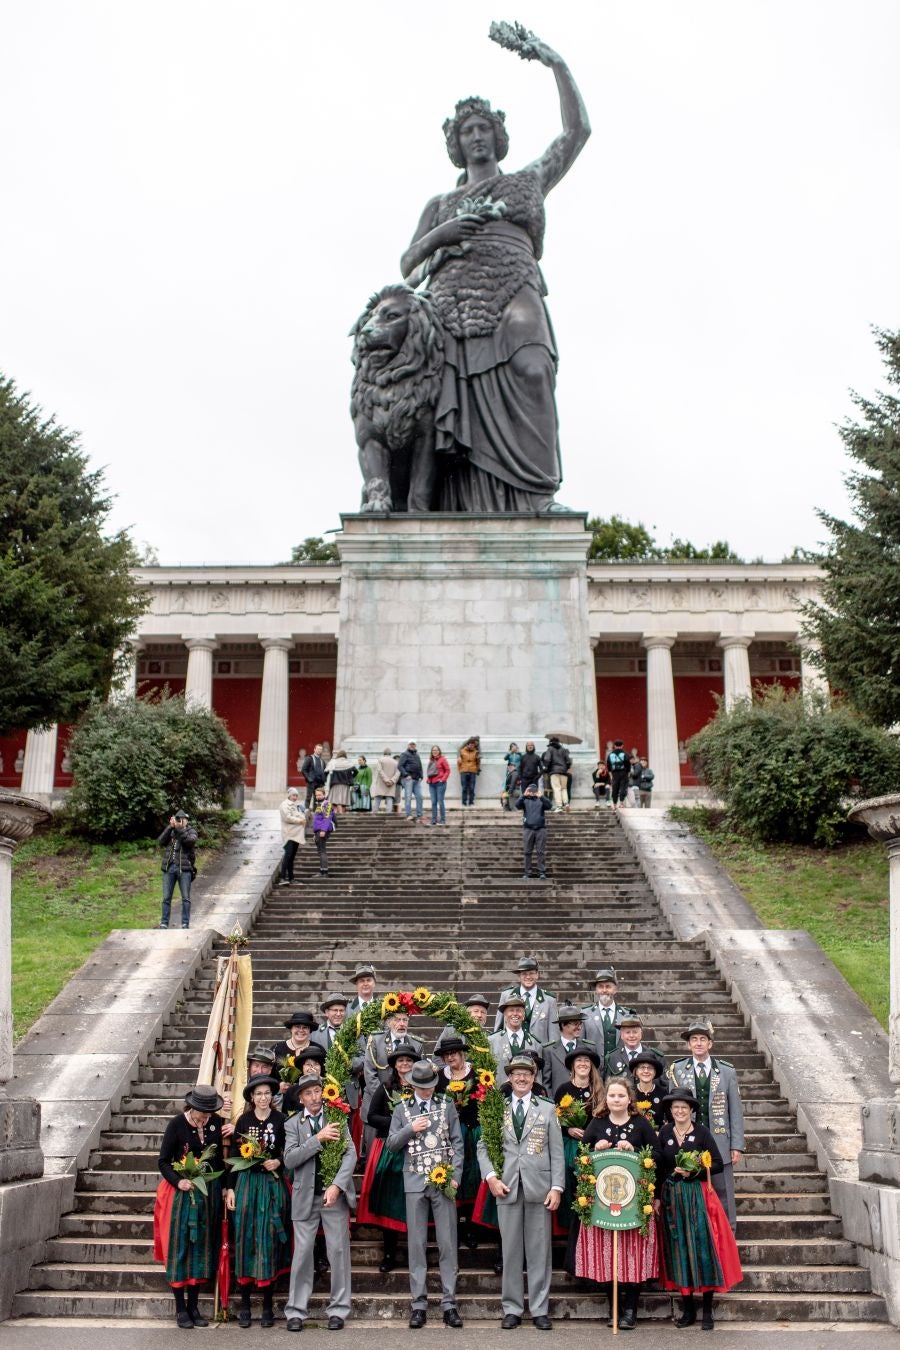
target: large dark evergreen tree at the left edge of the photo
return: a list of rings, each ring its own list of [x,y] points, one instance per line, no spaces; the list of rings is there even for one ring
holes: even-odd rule
[[[104,698],[144,609],[125,533],[77,436],[0,375],[0,734],[72,722]]]

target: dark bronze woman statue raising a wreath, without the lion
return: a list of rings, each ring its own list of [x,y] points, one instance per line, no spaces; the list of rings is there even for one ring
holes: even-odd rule
[[[544,197],[568,171],[591,127],[565,62],[526,36],[519,54],[556,76],[561,135],[540,159],[505,174],[505,115],[484,99],[460,100],[444,123],[448,154],[463,170],[457,186],[428,202],[401,259],[410,285],[426,279],[447,329],[436,410],[444,466],[439,510],[548,510],[561,479],[556,346],[537,263]]]

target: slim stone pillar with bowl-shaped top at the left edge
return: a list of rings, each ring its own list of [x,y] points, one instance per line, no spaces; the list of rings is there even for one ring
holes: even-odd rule
[[[49,818],[39,802],[0,791],[0,1184],[43,1173],[40,1107],[11,1096],[5,1084],[12,1077],[12,855]]]

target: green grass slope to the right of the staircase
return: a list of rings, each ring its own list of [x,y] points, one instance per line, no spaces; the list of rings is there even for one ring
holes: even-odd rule
[[[888,855],[860,840],[833,849],[753,844],[706,807],[672,807],[741,887],[765,927],[807,929],[888,1025]]]

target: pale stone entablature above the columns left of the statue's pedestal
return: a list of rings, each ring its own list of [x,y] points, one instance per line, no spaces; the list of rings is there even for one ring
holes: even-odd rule
[[[210,640],[259,643],[291,634],[337,637],[340,568],[336,564],[279,567],[142,567],[150,591],[134,643]]]

